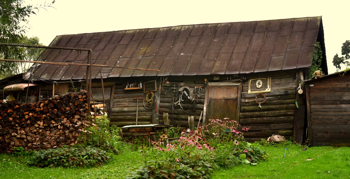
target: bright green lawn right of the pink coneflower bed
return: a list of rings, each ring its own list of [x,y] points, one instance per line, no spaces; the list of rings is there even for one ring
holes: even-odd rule
[[[269,160],[215,171],[211,178],[350,178],[350,148],[319,146],[301,151],[300,146],[261,146]],[[284,153],[286,156],[284,157]]]

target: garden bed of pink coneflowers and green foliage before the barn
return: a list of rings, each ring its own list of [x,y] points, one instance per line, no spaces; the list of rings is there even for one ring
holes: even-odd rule
[[[166,135],[158,141],[145,136],[139,146],[143,164],[125,178],[209,178],[213,169],[255,165],[267,158],[256,144],[244,141],[248,128],[239,131],[239,124],[229,118],[209,121],[195,131],[182,131],[180,139],[168,144]]]

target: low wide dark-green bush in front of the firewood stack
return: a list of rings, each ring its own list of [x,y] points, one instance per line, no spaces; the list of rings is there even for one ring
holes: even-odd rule
[[[109,156],[104,150],[94,147],[63,147],[58,149],[40,150],[33,153],[28,165],[37,167],[93,167],[105,163]]]

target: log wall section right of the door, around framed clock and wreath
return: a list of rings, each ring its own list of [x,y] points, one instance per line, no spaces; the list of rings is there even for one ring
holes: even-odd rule
[[[239,122],[242,127],[250,128],[245,138],[251,141],[269,136],[293,136],[296,78],[295,72],[262,73],[247,76],[243,83],[240,103]],[[248,94],[249,79],[271,77],[271,92],[264,93],[266,102],[259,108],[255,103],[257,93]],[[257,101],[264,101],[261,95]]]

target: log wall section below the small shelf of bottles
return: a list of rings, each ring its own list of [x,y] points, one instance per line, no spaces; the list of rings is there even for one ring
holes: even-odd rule
[[[146,94],[142,89],[125,90],[123,84],[116,84],[110,117],[111,124],[119,127],[136,125],[137,111],[139,125],[151,124],[151,112],[144,106]]]

